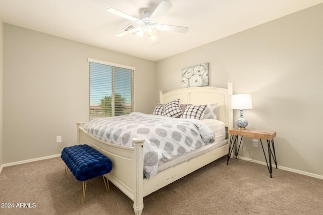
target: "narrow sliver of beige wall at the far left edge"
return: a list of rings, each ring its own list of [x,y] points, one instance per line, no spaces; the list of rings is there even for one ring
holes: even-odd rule
[[[3,153],[3,74],[4,74],[4,60],[3,60],[3,34],[4,25],[0,17],[0,173],[1,167],[4,164],[4,153]]]

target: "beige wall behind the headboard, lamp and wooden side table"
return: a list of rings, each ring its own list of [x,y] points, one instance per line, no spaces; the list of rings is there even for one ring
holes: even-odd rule
[[[277,131],[279,166],[323,177],[322,26],[320,4],[159,60],[157,89],[181,88],[182,68],[209,62],[210,86],[233,82],[234,94],[252,94],[253,109],[244,111],[248,127]],[[264,162],[261,147],[251,147],[251,139],[239,155]]]

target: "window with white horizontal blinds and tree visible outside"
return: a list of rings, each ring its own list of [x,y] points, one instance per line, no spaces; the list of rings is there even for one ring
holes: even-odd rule
[[[134,67],[88,59],[90,63],[90,119],[133,112]]]

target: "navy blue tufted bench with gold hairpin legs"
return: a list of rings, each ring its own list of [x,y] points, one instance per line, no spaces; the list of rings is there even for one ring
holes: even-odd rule
[[[65,147],[61,158],[66,164],[65,175],[68,167],[77,180],[83,181],[82,204],[85,201],[86,182],[88,179],[102,176],[105,189],[107,192],[110,192],[107,176],[105,176],[106,182],[104,179],[104,175],[112,170],[111,160],[108,157],[88,145],[76,145]]]

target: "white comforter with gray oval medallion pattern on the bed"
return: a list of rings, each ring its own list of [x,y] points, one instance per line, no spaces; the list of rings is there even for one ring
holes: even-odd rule
[[[138,112],[93,119],[84,129],[99,139],[126,147],[133,147],[133,138],[144,138],[144,173],[148,179],[164,161],[214,141],[214,133],[200,120]]]

